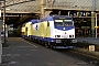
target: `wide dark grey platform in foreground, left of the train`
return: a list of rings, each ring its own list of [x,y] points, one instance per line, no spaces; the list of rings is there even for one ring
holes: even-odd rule
[[[21,37],[8,37],[3,47],[2,64],[7,66],[90,66],[80,59]],[[80,65],[79,65],[80,63]]]

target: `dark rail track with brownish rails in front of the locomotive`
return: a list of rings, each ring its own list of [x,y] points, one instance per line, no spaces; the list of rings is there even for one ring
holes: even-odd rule
[[[70,57],[81,59],[86,63],[91,64],[91,66],[99,66],[99,55],[96,55],[95,53],[90,53],[88,51],[82,51],[80,48],[74,48],[74,50],[55,50],[62,54],[68,55]],[[80,63],[81,65],[82,63]],[[87,65],[87,64],[86,64]]]

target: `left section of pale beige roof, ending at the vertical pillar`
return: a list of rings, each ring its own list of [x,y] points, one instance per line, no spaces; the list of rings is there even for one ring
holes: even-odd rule
[[[3,9],[1,1],[1,8]],[[6,0],[6,12],[10,13],[40,13],[38,0]]]

